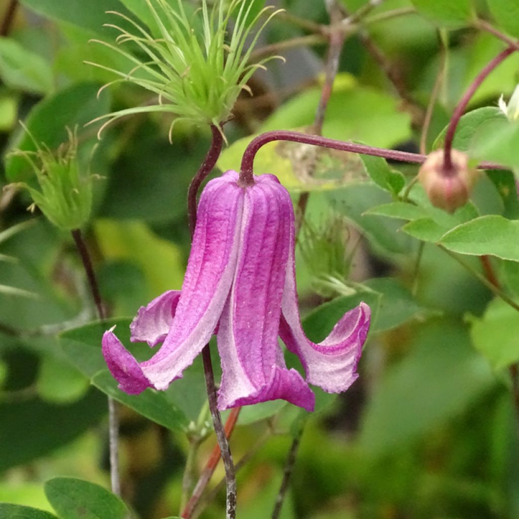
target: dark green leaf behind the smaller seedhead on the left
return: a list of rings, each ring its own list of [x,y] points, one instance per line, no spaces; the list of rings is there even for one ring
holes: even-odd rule
[[[49,148],[56,149],[60,144],[69,141],[66,128],[78,127],[78,139],[84,146],[93,146],[97,139],[92,130],[85,130],[84,125],[108,111],[110,98],[103,93],[97,98],[99,85],[81,83],[40,101],[31,110],[25,125],[34,139],[44,142]],[[31,137],[20,132],[18,139],[11,143],[11,148],[34,151]],[[24,181],[32,175],[32,168],[23,157],[9,156],[6,161],[6,176],[11,182]]]

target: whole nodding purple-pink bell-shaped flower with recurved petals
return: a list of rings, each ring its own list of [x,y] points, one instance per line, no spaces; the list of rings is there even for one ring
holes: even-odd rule
[[[314,384],[345,391],[356,373],[370,326],[370,308],[347,312],[322,343],[308,340],[299,318],[294,265],[294,212],[274,175],[238,185],[228,171],[207,184],[181,291],[171,290],[141,307],[131,340],[159,351],[138,363],[113,333],[103,354],[119,388],[138,394],[166,389],[182,377],[216,333],[222,361],[218,408],[284,399],[313,411]],[[303,364],[306,380],[286,367],[281,337]]]

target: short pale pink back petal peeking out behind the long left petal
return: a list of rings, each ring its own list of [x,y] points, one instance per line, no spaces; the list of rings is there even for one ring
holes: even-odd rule
[[[131,342],[148,343],[152,348],[161,343],[169,333],[179,299],[180,290],[168,290],[141,306],[130,324]]]

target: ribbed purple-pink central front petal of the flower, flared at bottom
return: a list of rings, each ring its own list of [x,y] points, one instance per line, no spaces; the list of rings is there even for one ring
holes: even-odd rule
[[[220,409],[275,399],[313,409],[312,391],[286,368],[277,339],[293,218],[276,177],[262,175],[245,190],[238,263],[217,336]]]

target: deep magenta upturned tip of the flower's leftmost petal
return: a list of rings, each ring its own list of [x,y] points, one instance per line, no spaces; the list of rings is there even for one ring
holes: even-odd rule
[[[153,387],[139,363],[115,336],[113,328],[104,333],[102,349],[106,365],[118,381],[119,389],[128,394],[139,394]]]

